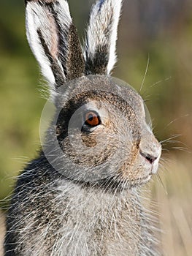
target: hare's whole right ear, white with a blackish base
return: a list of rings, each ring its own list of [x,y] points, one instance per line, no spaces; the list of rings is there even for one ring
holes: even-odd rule
[[[115,61],[115,47],[122,0],[99,0],[93,6],[85,41],[87,74],[110,74]]]

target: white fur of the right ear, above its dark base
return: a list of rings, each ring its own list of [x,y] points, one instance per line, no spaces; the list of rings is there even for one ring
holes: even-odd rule
[[[85,42],[85,58],[91,59],[98,47],[108,50],[107,74],[116,62],[116,40],[122,0],[99,0],[93,6]]]

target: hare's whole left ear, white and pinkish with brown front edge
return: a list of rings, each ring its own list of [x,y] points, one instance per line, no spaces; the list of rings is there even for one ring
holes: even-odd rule
[[[82,48],[67,1],[26,1],[26,31],[31,50],[53,91],[84,74]]]

